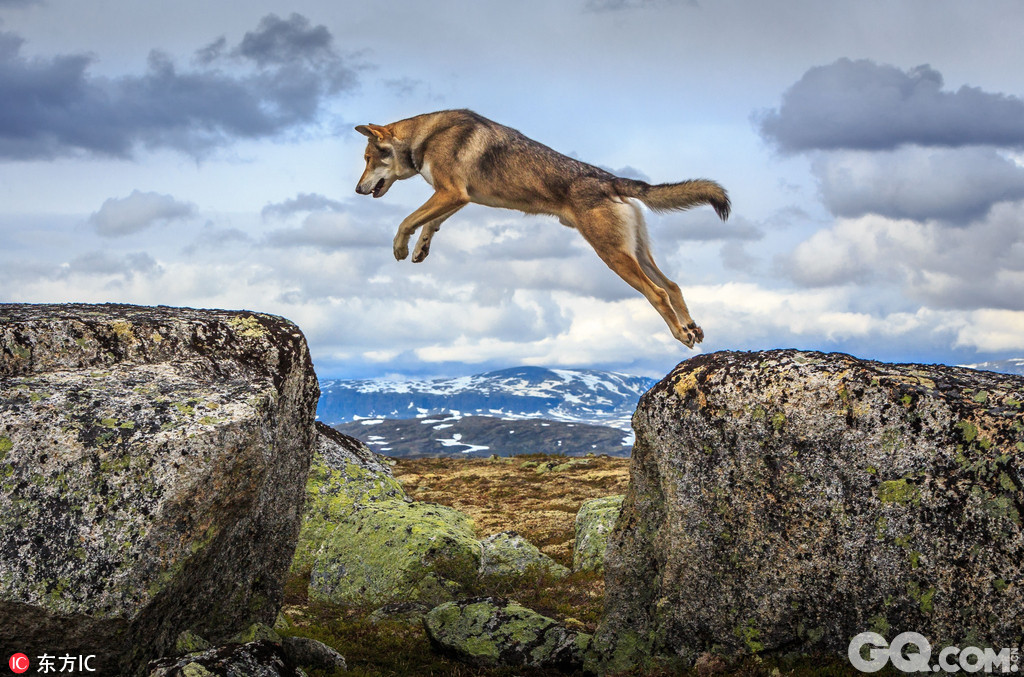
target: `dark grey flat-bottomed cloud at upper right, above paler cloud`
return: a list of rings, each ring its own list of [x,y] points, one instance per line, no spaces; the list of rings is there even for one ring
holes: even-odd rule
[[[778,109],[755,122],[783,153],[1024,145],[1024,100],[978,87],[944,91],[942,85],[942,75],[929,66],[901,71],[841,58],[807,71]]]

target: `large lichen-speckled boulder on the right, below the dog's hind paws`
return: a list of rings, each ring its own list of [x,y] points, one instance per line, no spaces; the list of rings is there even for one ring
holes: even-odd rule
[[[1024,643],[1024,379],[721,352],[634,416],[591,665]]]

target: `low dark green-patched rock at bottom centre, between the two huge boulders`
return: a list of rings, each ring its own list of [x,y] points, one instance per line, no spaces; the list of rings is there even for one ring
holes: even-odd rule
[[[437,606],[424,620],[430,641],[475,666],[583,665],[591,636],[499,597],[476,597]]]

